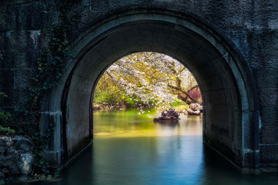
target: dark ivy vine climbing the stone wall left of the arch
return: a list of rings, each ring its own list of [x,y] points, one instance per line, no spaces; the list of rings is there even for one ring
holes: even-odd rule
[[[15,122],[20,123],[17,124],[17,134],[28,136],[33,143],[35,174],[49,174],[49,164],[44,160],[44,151],[49,146],[56,124],[49,123],[44,133],[40,133],[40,105],[44,94],[60,82],[65,60],[70,55],[68,37],[81,18],[81,10],[74,9],[75,1],[58,1],[58,21],[52,24],[47,46],[40,50],[38,73],[33,77],[33,85],[29,88],[30,96],[15,112]]]

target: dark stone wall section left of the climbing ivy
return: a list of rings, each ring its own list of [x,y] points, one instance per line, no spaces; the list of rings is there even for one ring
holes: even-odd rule
[[[13,111],[28,97],[37,71],[40,46],[46,44],[57,13],[54,1],[0,1],[0,107]]]

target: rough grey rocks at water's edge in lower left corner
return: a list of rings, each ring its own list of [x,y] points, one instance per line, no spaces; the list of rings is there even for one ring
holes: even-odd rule
[[[32,171],[32,144],[22,136],[0,137],[0,184],[28,179]]]

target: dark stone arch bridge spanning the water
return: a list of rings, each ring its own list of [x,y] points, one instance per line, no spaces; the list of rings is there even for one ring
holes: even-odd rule
[[[92,93],[124,55],[156,51],[195,75],[204,140],[246,170],[278,167],[278,3],[245,0],[83,0],[60,84],[44,95],[42,125],[56,122],[47,159],[63,166],[92,139]],[[28,96],[36,58],[58,17],[54,0],[0,2],[0,91],[13,110]]]

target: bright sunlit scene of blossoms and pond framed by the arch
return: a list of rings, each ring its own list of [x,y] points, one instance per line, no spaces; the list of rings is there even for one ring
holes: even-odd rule
[[[97,80],[92,104],[97,141],[202,137],[200,87],[183,64],[162,53],[133,53],[117,60]]]

